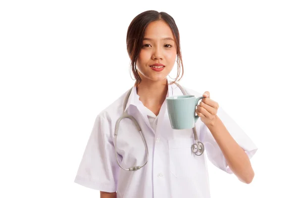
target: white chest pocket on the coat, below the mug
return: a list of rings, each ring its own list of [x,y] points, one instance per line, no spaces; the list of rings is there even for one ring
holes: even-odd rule
[[[195,177],[198,174],[198,159],[191,150],[193,139],[168,140],[170,172],[177,178]]]

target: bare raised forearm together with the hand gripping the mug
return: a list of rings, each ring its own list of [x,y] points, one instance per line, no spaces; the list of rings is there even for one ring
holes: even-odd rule
[[[201,118],[201,121],[209,129],[216,145],[221,150],[222,155],[226,159],[226,163],[230,170],[238,177],[238,179],[244,183],[251,183],[254,172],[251,167],[249,156],[245,150],[234,140],[222,120],[217,115],[219,110],[219,104],[210,99],[209,92],[203,94],[202,101],[197,107],[196,113]],[[222,109],[221,109],[222,110]],[[221,112],[223,113],[223,112]],[[245,135],[242,130],[236,126],[234,121],[222,114],[222,119],[229,125],[234,134]],[[245,137],[247,139],[247,137]],[[248,139],[247,139],[248,140]],[[248,141],[248,146],[254,146],[251,141]],[[250,147],[249,147],[250,149]],[[213,157],[212,157],[213,158]]]

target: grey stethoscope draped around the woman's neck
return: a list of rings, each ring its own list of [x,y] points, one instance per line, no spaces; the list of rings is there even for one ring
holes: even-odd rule
[[[187,95],[187,92],[184,90],[184,88],[182,88],[182,86],[180,86],[178,83],[175,83],[179,88],[180,90],[182,91],[183,95]],[[123,115],[121,117],[118,118],[118,120],[116,121],[116,124],[115,124],[115,129],[114,129],[114,148],[115,148],[115,157],[116,157],[116,161],[118,163],[118,165],[124,169],[124,170],[129,170],[129,171],[135,171],[135,170],[139,170],[141,169],[142,167],[144,167],[147,163],[148,163],[148,145],[147,145],[147,141],[146,141],[146,138],[138,124],[138,122],[136,121],[136,119],[132,116],[132,115],[129,115],[125,109],[126,109],[126,106],[127,106],[127,102],[128,102],[128,99],[129,99],[129,96],[131,94],[131,91],[132,91],[133,87],[128,91],[128,94],[126,95],[126,98],[124,100],[124,108],[123,108]],[[133,121],[133,123],[135,124],[135,126],[137,127],[137,130],[140,132],[140,135],[143,139],[143,142],[146,146],[146,154],[147,154],[147,160],[146,160],[146,163],[142,166],[133,166],[131,168],[123,168],[120,163],[119,163],[119,160],[118,160],[118,157],[117,157],[117,152],[116,152],[116,137],[117,137],[117,133],[118,133],[118,129],[119,129],[119,124],[120,124],[120,121],[124,118],[129,118]],[[191,150],[194,154],[200,156],[203,152],[204,152],[204,145],[198,141],[198,137],[197,137],[197,130],[196,130],[196,126],[194,125],[194,128],[193,128],[193,133],[194,133],[194,139],[196,141],[196,143],[194,143],[191,147]]]

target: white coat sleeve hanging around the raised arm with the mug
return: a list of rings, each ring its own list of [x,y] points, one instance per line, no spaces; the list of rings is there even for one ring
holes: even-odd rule
[[[239,146],[245,150],[248,158],[250,159],[257,151],[257,147],[255,146],[255,144],[240,128],[240,126],[223,110],[222,107],[218,108],[217,115],[222,120],[223,124],[225,125],[231,136],[239,144]],[[212,164],[214,164],[221,170],[232,174],[233,172],[227,165],[226,158],[224,157],[217,142],[204,123],[200,125],[199,137],[201,142],[204,144],[206,155],[209,161],[211,161]]]

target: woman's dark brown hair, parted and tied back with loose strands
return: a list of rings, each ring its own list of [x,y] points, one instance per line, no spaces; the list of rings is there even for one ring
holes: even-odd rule
[[[135,86],[138,86],[142,81],[136,69],[136,62],[140,54],[140,51],[142,49],[145,30],[150,22],[159,21],[159,20],[162,20],[169,25],[176,43],[177,64],[178,64],[177,77],[170,84],[173,84],[174,82],[179,81],[184,75],[182,52],[180,48],[180,36],[179,36],[179,31],[175,24],[174,19],[166,12],[148,10],[137,15],[131,21],[127,31],[127,38],[126,38],[127,51],[131,60],[130,66],[132,68],[132,72],[136,80]],[[180,71],[181,70],[180,67],[182,67],[182,73]],[[181,77],[179,78],[180,74],[181,74]]]

